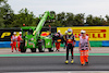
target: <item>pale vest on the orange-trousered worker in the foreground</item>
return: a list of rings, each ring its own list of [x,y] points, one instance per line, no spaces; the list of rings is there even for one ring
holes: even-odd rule
[[[80,36],[81,50],[88,50],[88,36],[83,38]]]

